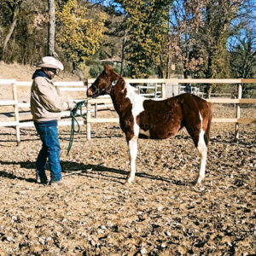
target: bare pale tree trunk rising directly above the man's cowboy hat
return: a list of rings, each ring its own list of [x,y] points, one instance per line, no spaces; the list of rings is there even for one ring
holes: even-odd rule
[[[48,0],[49,7],[49,31],[48,31],[48,55],[55,56],[55,0]]]

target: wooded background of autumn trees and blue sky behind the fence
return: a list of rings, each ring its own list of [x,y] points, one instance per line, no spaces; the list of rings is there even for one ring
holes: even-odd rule
[[[81,79],[103,63],[131,78],[253,78],[255,13],[254,0],[0,0],[0,60],[54,55]]]

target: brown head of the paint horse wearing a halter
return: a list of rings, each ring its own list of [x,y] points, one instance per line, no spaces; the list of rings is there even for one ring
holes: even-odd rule
[[[117,83],[119,74],[106,65],[102,73],[96,78],[95,82],[87,90],[87,96],[96,98],[97,96],[110,94],[112,87]]]

